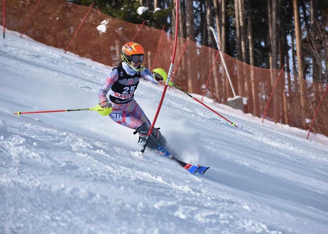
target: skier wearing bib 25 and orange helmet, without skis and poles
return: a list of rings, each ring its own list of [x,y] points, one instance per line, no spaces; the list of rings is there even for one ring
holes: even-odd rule
[[[134,42],[124,44],[121,52],[123,61],[113,68],[103,87],[99,90],[100,106],[109,108],[111,105],[113,108],[110,118],[123,126],[136,130],[143,141],[146,140],[151,122],[134,100],[134,92],[137,89],[140,78],[144,78],[154,84],[159,84],[163,80],[160,74],[156,72],[152,74],[148,68],[145,68],[143,64],[144,55],[145,52],[141,45]],[[162,71],[165,72],[164,70]],[[110,89],[109,102],[106,95]],[[170,152],[164,148],[166,140],[158,129],[153,128],[147,146],[156,154],[173,159]]]

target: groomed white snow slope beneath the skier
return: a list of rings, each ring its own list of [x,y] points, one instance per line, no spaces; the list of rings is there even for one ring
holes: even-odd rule
[[[328,233],[328,146],[209,99],[239,128],[173,87],[156,122],[204,176],[140,155],[133,130],[95,111],[12,114],[94,107],[110,71],[1,39],[0,233]],[[162,90],[135,94],[151,121]]]

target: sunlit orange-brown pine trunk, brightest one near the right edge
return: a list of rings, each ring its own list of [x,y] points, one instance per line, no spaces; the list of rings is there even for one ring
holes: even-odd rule
[[[305,113],[305,87],[306,80],[303,79],[303,58],[301,54],[301,27],[299,20],[299,8],[297,0],[293,0],[293,9],[294,9],[294,23],[295,23],[295,37],[296,37],[296,54],[297,54],[297,70],[299,77],[299,85],[300,85],[300,94],[301,94],[301,107],[303,117]]]

